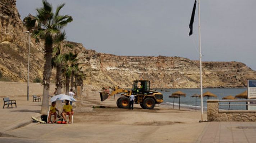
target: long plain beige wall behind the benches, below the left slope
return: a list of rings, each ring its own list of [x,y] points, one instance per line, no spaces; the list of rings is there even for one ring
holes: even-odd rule
[[[55,91],[55,84],[50,85],[49,94]],[[29,83],[29,95],[42,95],[43,85],[41,83]],[[27,83],[0,82],[0,97],[26,97]]]

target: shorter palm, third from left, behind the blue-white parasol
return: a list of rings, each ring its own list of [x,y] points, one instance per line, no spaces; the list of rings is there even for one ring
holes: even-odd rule
[[[77,54],[73,54],[72,52],[69,52],[64,55],[65,63],[63,66],[63,74],[66,78],[66,94],[69,92],[69,83],[70,83],[70,77],[72,75],[72,72],[76,70],[76,64],[77,64]]]

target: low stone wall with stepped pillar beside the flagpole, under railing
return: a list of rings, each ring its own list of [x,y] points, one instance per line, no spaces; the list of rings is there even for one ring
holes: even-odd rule
[[[219,110],[219,100],[207,100],[208,121],[255,122],[256,110]]]

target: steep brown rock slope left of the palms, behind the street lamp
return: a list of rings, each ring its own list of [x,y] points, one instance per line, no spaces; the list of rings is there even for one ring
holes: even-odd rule
[[[6,80],[27,81],[28,34],[20,20],[15,0],[0,1],[0,71]],[[42,77],[43,45],[31,39],[30,78]]]

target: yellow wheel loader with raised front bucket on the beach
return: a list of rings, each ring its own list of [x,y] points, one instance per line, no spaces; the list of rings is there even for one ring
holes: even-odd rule
[[[115,94],[123,95],[116,100],[118,108],[129,108],[129,96],[132,94],[135,96],[134,103],[140,104],[143,109],[153,109],[155,104],[164,102],[162,93],[150,90],[149,80],[134,80],[132,90],[116,87],[111,93],[100,92],[100,99],[104,101]]]

